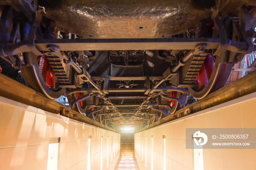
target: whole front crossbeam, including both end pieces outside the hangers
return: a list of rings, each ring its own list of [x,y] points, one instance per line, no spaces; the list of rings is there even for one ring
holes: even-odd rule
[[[35,48],[48,51],[48,45],[55,45],[61,51],[80,50],[193,50],[198,44],[206,44],[206,49],[217,49],[219,38],[132,38],[132,39],[37,39]],[[247,42],[226,40],[225,50],[244,53],[248,50]],[[30,52],[28,41],[20,41],[14,45],[7,44],[3,48],[4,56]]]

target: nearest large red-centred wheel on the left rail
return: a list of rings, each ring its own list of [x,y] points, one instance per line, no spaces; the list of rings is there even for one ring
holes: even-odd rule
[[[31,64],[20,67],[27,85],[45,94],[48,98],[59,98],[65,89],[59,87],[58,80],[46,56],[42,55],[38,57],[32,52],[27,52],[23,53],[23,57],[27,60],[26,63]]]

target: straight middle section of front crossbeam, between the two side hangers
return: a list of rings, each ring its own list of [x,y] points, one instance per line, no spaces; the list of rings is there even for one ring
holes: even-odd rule
[[[39,51],[46,51],[49,44],[59,46],[61,51],[193,50],[199,43],[207,44],[207,49],[217,49],[219,38],[38,39],[35,47]]]

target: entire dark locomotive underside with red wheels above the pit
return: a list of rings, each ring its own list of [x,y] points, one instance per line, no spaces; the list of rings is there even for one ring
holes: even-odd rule
[[[223,87],[254,50],[253,0],[0,0],[0,56],[26,84],[112,128]]]

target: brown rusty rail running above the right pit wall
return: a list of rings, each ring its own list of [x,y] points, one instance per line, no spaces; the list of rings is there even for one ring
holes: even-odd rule
[[[256,92],[256,72],[252,72],[245,77],[242,77],[237,81],[232,82],[231,84],[209,94],[204,99],[197,100],[196,102],[188,105],[187,107],[184,107],[175,112],[174,114],[166,116],[163,119],[148,125],[147,127],[139,130],[138,132],[148,130],[158,125],[176,120],[180,117],[191,115],[192,113],[214,107],[216,105],[225,103],[238,97],[245,96],[246,94],[250,94],[253,92]]]

